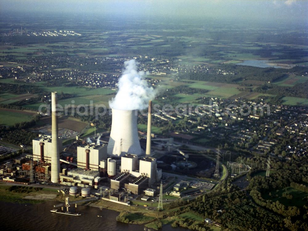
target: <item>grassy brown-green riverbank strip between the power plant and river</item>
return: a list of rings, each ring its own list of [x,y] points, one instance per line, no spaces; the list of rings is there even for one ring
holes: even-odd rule
[[[50,204],[51,201],[55,203],[64,202],[67,194],[58,193],[56,188],[46,186],[43,188],[41,185],[10,185],[10,184],[0,184],[0,201],[10,202],[14,204],[32,204],[32,205],[41,205],[41,204]],[[70,196],[70,201],[81,200],[79,197]],[[176,202],[172,202],[176,203]],[[176,203],[178,204],[178,203]],[[184,203],[185,204],[185,203]],[[167,205],[167,204],[166,204]],[[114,218],[115,221],[132,224],[132,225],[142,225],[151,229],[161,229],[161,227],[166,227],[173,225],[173,227],[178,227],[181,225],[180,221],[190,221],[194,224],[202,225],[203,218],[195,216],[183,217],[181,213],[184,213],[183,209],[187,205],[176,206],[168,209],[168,206],[163,211],[154,211],[146,207],[133,204],[131,206],[121,205],[113,203],[111,201],[105,200],[96,200],[89,201],[83,204],[78,205],[79,207],[92,207],[99,210],[113,210],[114,212],[120,213]],[[50,208],[47,208],[49,211],[53,205],[50,205]],[[73,208],[71,208],[73,209]],[[87,216],[87,214],[84,214]],[[183,223],[184,224],[184,223]],[[187,226],[188,227],[188,226]],[[201,226],[202,227],[202,226]]]

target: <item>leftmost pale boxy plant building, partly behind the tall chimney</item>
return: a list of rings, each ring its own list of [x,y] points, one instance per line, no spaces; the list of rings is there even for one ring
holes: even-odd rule
[[[52,145],[51,136],[39,135],[32,140],[33,160],[45,163],[51,163]],[[59,153],[62,152],[62,138],[59,138]]]

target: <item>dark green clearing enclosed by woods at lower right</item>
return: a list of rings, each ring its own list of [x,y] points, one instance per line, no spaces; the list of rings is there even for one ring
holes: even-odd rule
[[[269,193],[266,193],[263,196],[266,200],[272,200],[272,201],[279,201],[285,206],[298,206],[301,207],[305,205],[306,199],[305,197],[308,196],[308,193],[300,191],[298,189],[292,188],[292,187],[286,187],[278,190],[271,191],[272,197],[269,195]],[[291,194],[293,196],[292,199],[287,199],[286,197],[282,197],[282,193]],[[278,197],[276,197],[278,195]]]

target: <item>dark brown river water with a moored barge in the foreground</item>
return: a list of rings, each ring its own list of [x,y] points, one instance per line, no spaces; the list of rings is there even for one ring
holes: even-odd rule
[[[0,224],[2,230],[108,230],[108,231],[144,231],[144,225],[117,222],[119,212],[78,205],[81,216],[69,216],[51,213],[55,201],[45,201],[39,205],[14,204],[0,202]],[[74,207],[71,211],[74,211]],[[97,217],[102,216],[102,217]],[[188,230],[182,227],[172,228],[164,225],[162,231]]]

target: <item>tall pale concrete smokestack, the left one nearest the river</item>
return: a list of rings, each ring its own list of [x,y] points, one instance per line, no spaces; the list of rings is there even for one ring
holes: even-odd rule
[[[59,132],[58,116],[56,115],[57,92],[51,92],[51,182],[59,182],[60,153],[59,153]]]

